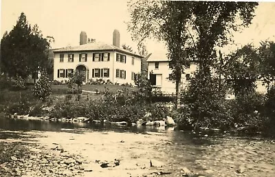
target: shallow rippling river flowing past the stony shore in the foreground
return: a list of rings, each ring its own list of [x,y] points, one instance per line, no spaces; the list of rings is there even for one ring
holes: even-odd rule
[[[0,132],[1,140],[61,145],[90,162],[121,160],[114,168],[94,164],[87,176],[275,176],[275,142],[261,136],[12,118],[0,118]]]

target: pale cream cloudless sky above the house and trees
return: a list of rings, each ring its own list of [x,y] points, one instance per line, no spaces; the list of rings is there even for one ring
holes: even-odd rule
[[[126,21],[130,15],[127,0],[0,0],[1,37],[12,30],[21,12],[24,12],[30,25],[39,25],[44,37],[52,36],[52,48],[65,48],[79,45],[81,31],[88,38],[112,44],[113,30],[120,31],[120,45],[126,43],[136,49],[127,32]],[[228,45],[222,52],[235,50],[241,45],[270,39],[275,41],[275,2],[260,2],[249,28],[234,33],[234,45]],[[148,52],[165,54],[164,46],[158,41],[148,41]]]

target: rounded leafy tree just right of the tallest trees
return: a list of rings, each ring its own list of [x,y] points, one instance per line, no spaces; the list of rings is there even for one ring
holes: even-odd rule
[[[225,59],[223,74],[236,96],[254,91],[259,76],[259,55],[252,45],[245,45]]]

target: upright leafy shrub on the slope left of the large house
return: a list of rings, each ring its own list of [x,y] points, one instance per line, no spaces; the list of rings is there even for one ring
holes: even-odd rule
[[[32,94],[42,101],[45,101],[47,96],[50,96],[50,94],[52,94],[50,79],[47,76],[46,72],[41,72],[41,77],[39,78],[39,81],[35,83]]]

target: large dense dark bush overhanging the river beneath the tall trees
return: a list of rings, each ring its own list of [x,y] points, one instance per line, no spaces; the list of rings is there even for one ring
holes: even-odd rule
[[[225,83],[223,83],[225,85]],[[226,87],[219,87],[219,79],[196,75],[183,92],[184,104],[190,112],[190,123],[195,127],[228,127],[231,123],[225,102]],[[187,109],[187,108],[186,108]]]

